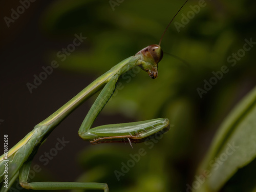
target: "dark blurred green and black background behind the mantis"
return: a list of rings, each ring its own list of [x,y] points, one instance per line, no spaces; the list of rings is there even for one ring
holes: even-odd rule
[[[157,79],[143,71],[126,74],[120,79],[122,87],[94,123],[97,126],[167,117],[174,125],[169,132],[151,145],[92,146],[77,134],[96,98],[92,97],[40,147],[33,165],[41,170],[31,181],[104,182],[111,192],[187,190],[220,123],[256,84],[255,47],[245,51],[234,66],[227,60],[243,49],[245,39],[256,41],[255,1],[206,0],[205,6],[177,30],[178,23],[184,24],[184,15],[193,10],[190,6],[199,2],[188,1],[161,44],[164,52],[179,56],[189,66],[165,54]],[[0,130],[1,135],[8,134],[9,146],[118,62],[148,45],[158,44],[183,3],[37,0],[30,2],[8,27],[4,18],[11,18],[12,9],[17,10],[21,4],[1,1]],[[87,38],[62,61],[58,52],[73,43],[75,34]],[[53,60],[59,66],[31,93],[27,83],[33,83],[34,75],[39,76],[44,72],[42,67],[50,66]],[[220,71],[223,66],[227,66],[228,73],[201,98],[197,89],[204,89],[204,80],[209,82],[214,76],[212,71]],[[58,138],[69,143],[48,158],[49,163],[42,161]],[[123,164],[131,160],[130,154],[137,154],[140,148],[145,155],[118,181],[115,170],[121,172]]]

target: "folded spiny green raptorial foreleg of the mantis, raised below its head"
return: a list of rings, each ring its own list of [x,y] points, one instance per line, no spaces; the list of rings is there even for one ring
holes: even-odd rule
[[[79,136],[83,140],[90,141],[92,144],[125,141],[138,143],[143,142],[147,137],[150,137],[157,132],[161,131],[160,134],[167,132],[169,130],[169,120],[166,118],[123,124],[102,125],[90,129],[93,121],[115,91],[117,80],[118,75],[113,76],[111,80],[106,83],[86,118],[83,120],[78,132]]]

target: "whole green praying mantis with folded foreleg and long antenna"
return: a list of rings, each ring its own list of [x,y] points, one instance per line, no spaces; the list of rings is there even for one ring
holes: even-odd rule
[[[183,4],[183,6],[186,4],[186,2]],[[173,19],[169,22],[166,30]],[[142,142],[145,140],[145,138],[157,132],[167,132],[169,130],[169,120],[167,118],[123,124],[103,125],[91,129],[95,118],[104,108],[104,105],[109,101],[113,92],[115,91],[116,83],[120,75],[136,66],[139,66],[142,70],[146,71],[151,78],[157,78],[158,62],[163,57],[163,51],[160,47],[162,37],[160,39],[159,45],[151,45],[142,49],[134,56],[124,59],[116,66],[111,68],[108,72],[94,80],[91,84],[89,84],[88,87],[83,89],[74,98],[63,105],[59,110],[57,110],[44,121],[37,124],[34,129],[29,134],[27,134],[26,137],[24,137],[24,139],[19,141],[8,151],[8,156],[2,155],[0,157],[0,181],[3,183],[3,186],[0,192],[9,190],[18,176],[20,185],[26,189],[102,189],[105,192],[109,191],[108,185],[106,183],[28,183],[27,178],[29,175],[31,162],[39,146],[55,129],[55,127],[72,111],[74,111],[78,105],[80,105],[83,101],[88,99],[102,88],[102,91],[92,105],[92,108],[89,110],[86,118],[84,118],[78,131],[79,136],[83,140],[90,141],[92,144],[125,141],[128,141],[131,144],[132,142]],[[6,169],[6,157],[8,159],[8,169]],[[8,170],[8,174],[5,174],[4,170]],[[8,180],[8,184],[4,184],[6,178]]]

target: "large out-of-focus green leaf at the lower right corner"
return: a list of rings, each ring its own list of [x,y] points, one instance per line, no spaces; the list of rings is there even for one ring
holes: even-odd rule
[[[256,157],[256,88],[229,114],[190,187],[218,191]]]

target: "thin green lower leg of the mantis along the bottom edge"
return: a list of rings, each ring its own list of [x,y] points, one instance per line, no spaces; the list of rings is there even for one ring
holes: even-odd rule
[[[61,190],[61,189],[102,189],[109,191],[106,183],[84,183],[84,182],[31,182],[28,183],[31,161],[23,164],[19,170],[19,183],[26,189],[34,190]]]

